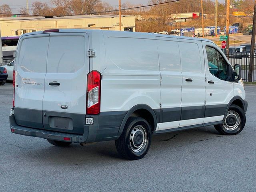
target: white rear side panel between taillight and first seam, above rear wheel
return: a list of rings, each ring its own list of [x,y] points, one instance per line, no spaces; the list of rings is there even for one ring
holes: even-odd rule
[[[140,34],[133,38],[128,32],[104,31],[104,42],[107,67],[102,73],[101,112],[128,111],[137,104],[159,109],[156,40],[140,38]]]

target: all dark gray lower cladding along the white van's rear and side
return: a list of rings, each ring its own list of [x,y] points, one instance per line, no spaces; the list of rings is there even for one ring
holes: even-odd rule
[[[231,104],[231,103],[230,103]],[[244,100],[244,112],[248,103]],[[174,120],[187,120],[211,116],[224,115],[229,105],[196,106],[185,108],[164,108],[154,110],[157,123],[172,122]],[[27,136],[63,141],[64,137],[70,142],[98,142],[116,140],[120,136],[122,121],[128,114],[127,111],[101,112],[99,115],[70,114],[62,112],[49,112],[15,108],[14,115],[10,115],[12,132]],[[94,124],[86,125],[85,118],[94,118]],[[214,122],[214,124],[222,122]],[[207,124],[207,125],[212,125]],[[194,125],[206,126],[206,125]],[[190,128],[186,127],[186,128]],[[158,133],[178,130],[163,130]],[[185,129],[185,128],[182,128]]]

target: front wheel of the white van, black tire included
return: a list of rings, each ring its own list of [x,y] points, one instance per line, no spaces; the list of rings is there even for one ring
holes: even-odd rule
[[[237,114],[240,118],[239,122],[237,121],[237,117],[236,117]],[[228,120],[228,116],[231,116],[229,118],[230,120]],[[236,135],[244,129],[245,123],[246,123],[246,116],[244,114],[244,111],[239,106],[232,104],[228,109],[227,115],[224,118],[224,123],[220,125],[214,125],[214,128],[222,135]],[[234,127],[233,128],[229,127],[228,124],[229,125],[234,124]]]

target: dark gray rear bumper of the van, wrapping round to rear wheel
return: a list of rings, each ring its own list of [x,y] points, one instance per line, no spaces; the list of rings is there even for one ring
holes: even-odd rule
[[[20,120],[17,119],[16,122],[14,114],[10,114],[9,119],[12,133],[57,141],[90,143],[118,139],[118,131],[120,129],[120,125],[125,114],[125,111],[101,112],[99,115],[86,116],[94,118],[94,124],[84,125],[83,127],[81,127],[83,129],[83,133],[81,132],[81,134],[73,134],[72,132],[68,133],[59,132],[58,130],[45,130],[43,128],[35,128],[36,126],[31,126],[35,124],[28,125],[28,122],[23,122],[24,124],[19,125],[20,123],[17,124],[17,122],[20,122]],[[17,118],[19,118],[19,116],[17,116]],[[26,125],[30,127],[27,127]],[[70,140],[64,140],[64,138],[70,138]]]

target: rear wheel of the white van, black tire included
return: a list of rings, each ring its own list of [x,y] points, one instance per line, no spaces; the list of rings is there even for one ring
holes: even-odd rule
[[[116,150],[126,159],[141,159],[150,148],[151,138],[152,132],[148,122],[144,118],[130,117],[124,126],[121,136],[118,140],[115,140]],[[132,142],[133,139],[134,141]]]

